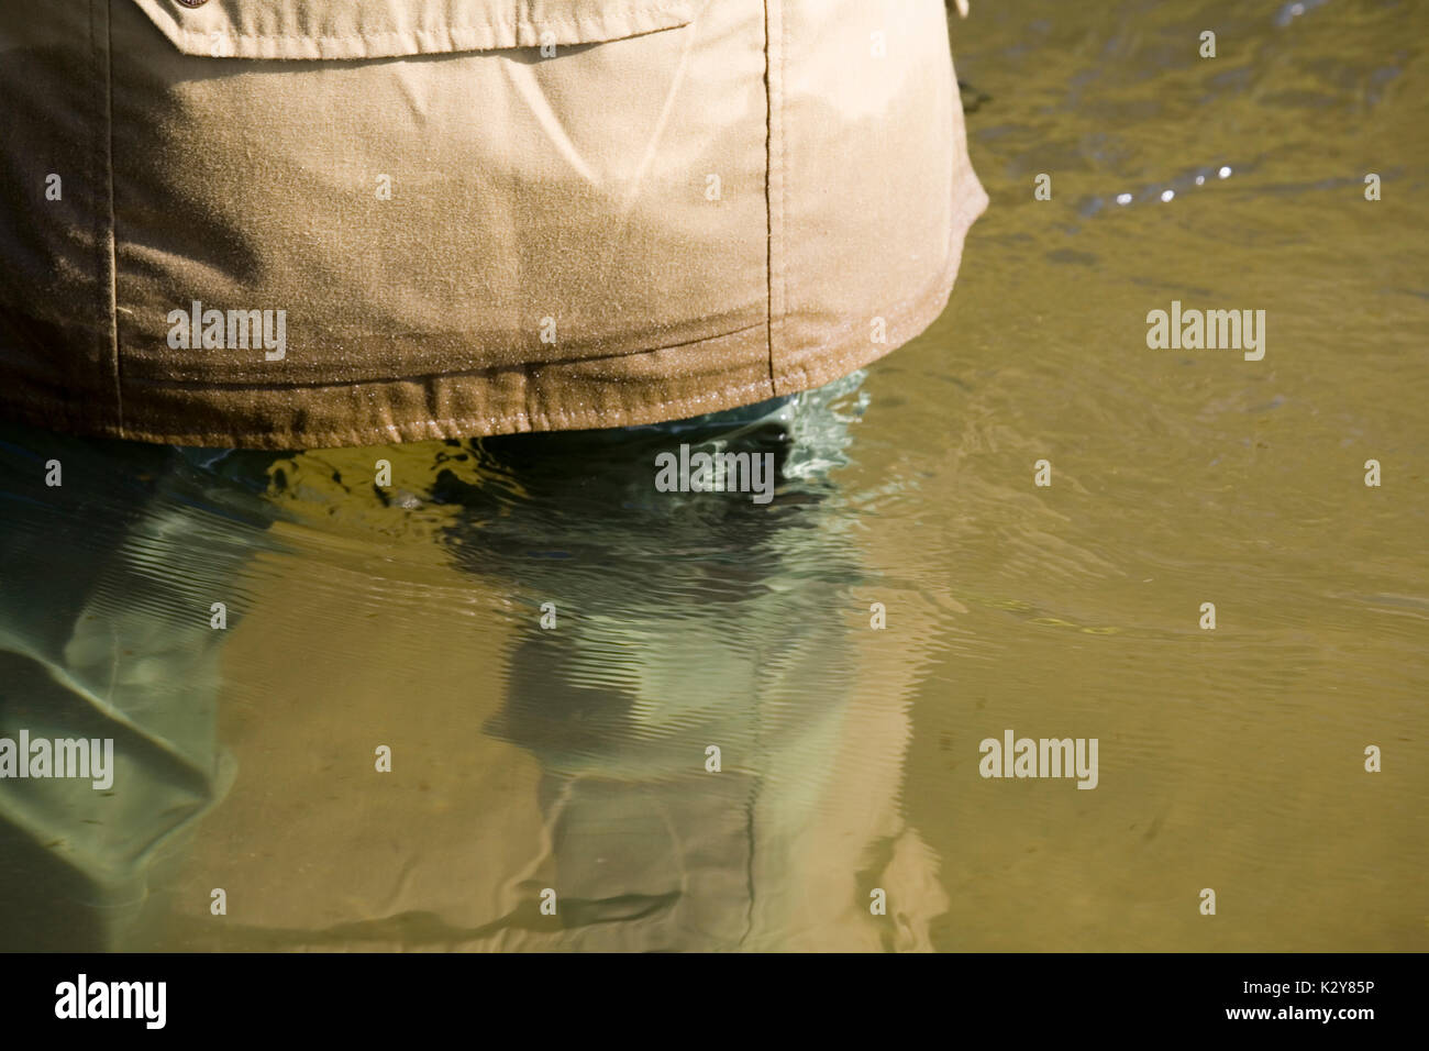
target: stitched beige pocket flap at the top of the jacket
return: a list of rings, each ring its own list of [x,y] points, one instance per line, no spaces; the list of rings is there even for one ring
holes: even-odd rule
[[[699,0],[134,0],[184,54],[390,59],[593,44],[687,24]]]

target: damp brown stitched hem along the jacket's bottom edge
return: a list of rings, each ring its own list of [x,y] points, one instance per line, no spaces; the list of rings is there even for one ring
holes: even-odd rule
[[[985,196],[982,202],[985,206]],[[967,222],[982,210],[977,206]],[[63,392],[9,388],[0,390],[0,416],[101,438],[239,449],[370,446],[659,423],[807,390],[876,362],[943,312],[957,263],[956,257],[949,260],[937,282],[885,317],[887,343],[872,342],[866,323],[852,326],[782,372],[777,383],[769,375],[767,327],[759,325],[619,357],[304,386],[302,402],[293,398],[292,386],[210,389],[127,380],[123,426],[70,420]],[[692,359],[722,367],[672,372],[676,362],[689,369]],[[420,418],[413,419],[413,413]],[[194,426],[204,419],[209,426]]]

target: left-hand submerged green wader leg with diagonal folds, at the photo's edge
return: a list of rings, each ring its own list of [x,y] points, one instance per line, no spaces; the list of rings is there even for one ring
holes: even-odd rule
[[[127,944],[231,781],[210,603],[272,512],[207,459],[0,433],[0,948]]]

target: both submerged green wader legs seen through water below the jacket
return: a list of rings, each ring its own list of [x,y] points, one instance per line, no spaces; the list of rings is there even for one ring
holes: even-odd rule
[[[437,510],[456,566],[520,611],[503,666],[472,673],[502,691],[486,732],[540,766],[543,819],[536,855],[504,872],[523,904],[443,938],[725,949],[779,947],[800,925],[847,944],[840,927],[862,925],[857,944],[886,941],[855,874],[890,857],[897,831],[859,811],[896,814],[906,716],[862,711],[863,755],[852,771],[839,759],[866,678],[847,611],[870,573],[836,480],[860,382],[670,425],[432,443],[410,513]],[[390,512],[396,490],[342,480],[370,469],[362,450],[4,438],[0,738],[113,739],[114,785],[0,781],[0,947],[161,945],[153,889],[236,776],[216,731],[226,632],[210,603],[279,548],[269,526],[304,505],[293,486],[307,475],[336,485],[324,516],[354,519],[363,500]],[[772,499],[662,492],[657,456],[682,445],[767,458]],[[50,459],[63,486],[44,485]],[[827,802],[835,782],[859,811]],[[810,891],[829,874],[835,889]],[[537,911],[546,888],[556,917]]]

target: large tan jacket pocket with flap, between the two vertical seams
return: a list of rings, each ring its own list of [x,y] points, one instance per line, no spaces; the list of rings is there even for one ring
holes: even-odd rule
[[[113,10],[123,383],[519,372],[765,323],[759,0]]]

